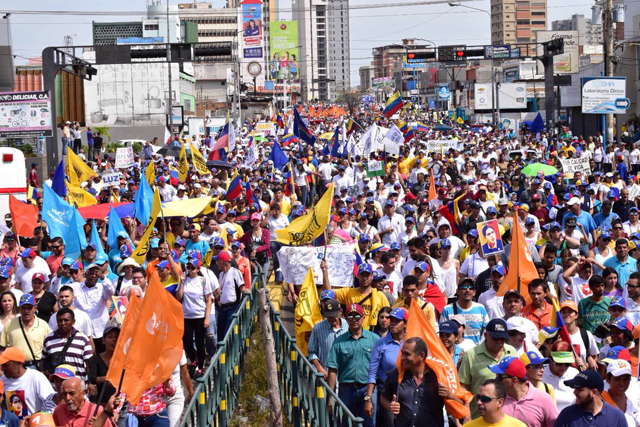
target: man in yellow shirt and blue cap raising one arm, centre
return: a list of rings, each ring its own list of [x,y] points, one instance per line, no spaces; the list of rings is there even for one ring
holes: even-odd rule
[[[327,263],[320,263],[322,269],[322,289],[331,289],[329,283],[329,273],[327,272]],[[382,307],[389,307],[389,301],[384,293],[371,287],[373,281],[373,271],[368,263],[360,264],[358,267],[358,287],[357,288],[340,288],[335,289],[336,300],[341,305],[350,306],[351,304],[360,304],[364,309],[364,322],[362,327],[367,330],[373,329],[378,321],[378,312]]]

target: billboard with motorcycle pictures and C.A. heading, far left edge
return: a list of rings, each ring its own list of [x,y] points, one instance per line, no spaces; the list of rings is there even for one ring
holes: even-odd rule
[[[49,91],[0,93],[0,137],[52,134]]]

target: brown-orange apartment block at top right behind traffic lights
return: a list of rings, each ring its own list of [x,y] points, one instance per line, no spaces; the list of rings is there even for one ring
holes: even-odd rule
[[[547,0],[491,0],[491,44],[535,43],[547,29]]]

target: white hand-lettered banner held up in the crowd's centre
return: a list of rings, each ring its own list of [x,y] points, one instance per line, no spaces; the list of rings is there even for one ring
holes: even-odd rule
[[[355,250],[355,243],[327,246],[326,261],[331,286],[341,288],[353,286]],[[283,246],[278,251],[283,280],[294,285],[302,285],[307,271],[313,268],[313,278],[317,284],[321,284],[320,261],[324,251],[324,246]]]

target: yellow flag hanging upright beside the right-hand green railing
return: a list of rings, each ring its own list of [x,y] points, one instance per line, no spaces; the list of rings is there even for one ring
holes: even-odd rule
[[[327,190],[328,191],[328,190]],[[337,308],[337,307],[336,307]],[[318,300],[318,289],[313,280],[313,269],[309,268],[307,276],[304,278],[300,296],[296,304],[295,313],[296,340],[298,347],[305,356],[309,355],[309,335],[313,326],[322,320],[320,313],[320,302]]]

